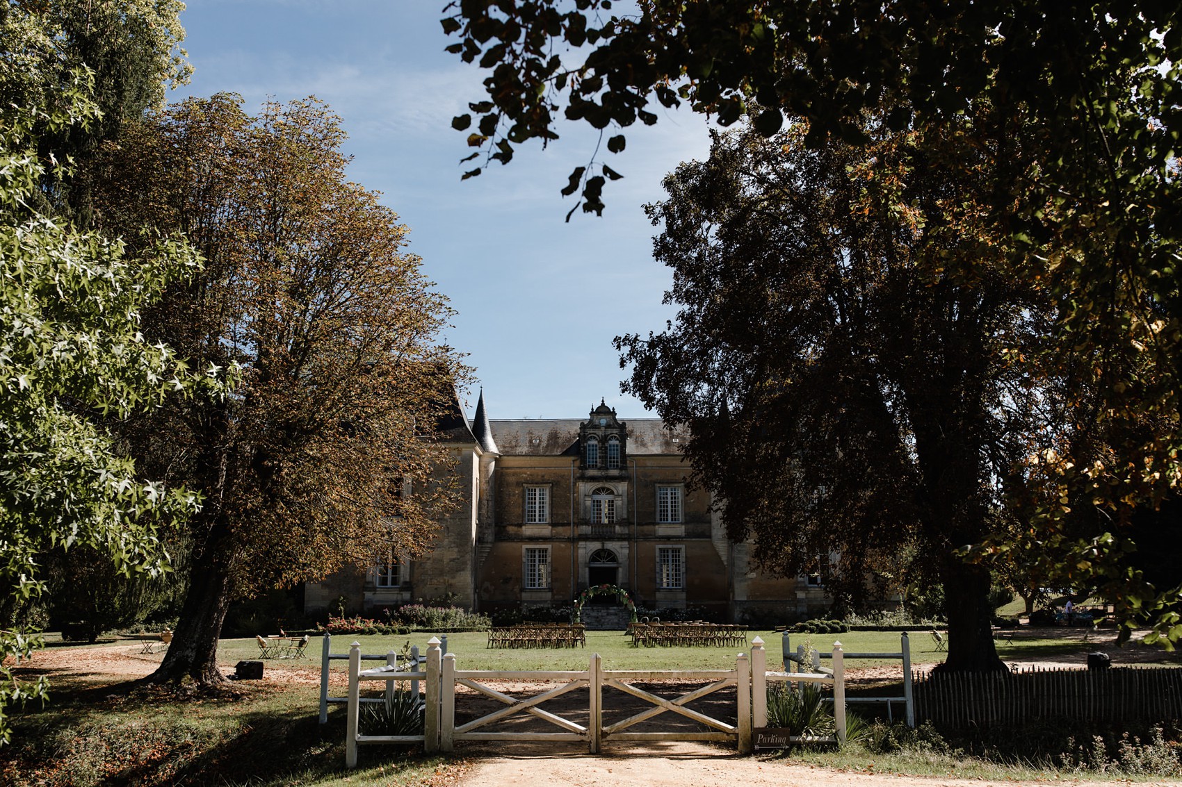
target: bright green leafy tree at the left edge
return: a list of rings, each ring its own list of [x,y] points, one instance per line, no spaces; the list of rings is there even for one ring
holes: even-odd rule
[[[199,505],[144,479],[103,418],[221,389],[139,330],[143,310],[197,268],[193,248],[156,239],[132,261],[54,209],[53,184],[73,170],[46,139],[97,136],[102,112],[102,77],[70,57],[52,18],[63,7],[0,9],[0,742],[9,705],[46,694],[44,679],[12,676],[13,657],[40,645],[22,614],[47,585],[40,555],[85,545],[122,573],[160,575],[162,532]]]

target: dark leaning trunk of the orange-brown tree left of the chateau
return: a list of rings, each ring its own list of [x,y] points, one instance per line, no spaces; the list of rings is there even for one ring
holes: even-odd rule
[[[229,609],[230,572],[207,545],[193,562],[189,592],[173,643],[149,683],[181,683],[191,678],[199,685],[220,685],[226,676],[217,669],[217,640]]]

